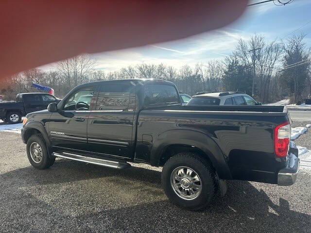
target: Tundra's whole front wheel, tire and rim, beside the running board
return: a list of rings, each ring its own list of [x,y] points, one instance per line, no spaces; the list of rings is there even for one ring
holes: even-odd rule
[[[32,166],[37,169],[46,169],[52,166],[55,158],[50,158],[46,144],[42,137],[35,134],[27,141],[27,157]]]

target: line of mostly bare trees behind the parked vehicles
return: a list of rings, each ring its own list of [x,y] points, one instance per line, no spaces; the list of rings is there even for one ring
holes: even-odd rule
[[[249,40],[240,39],[235,50],[223,59],[178,69],[142,63],[105,72],[94,69],[96,60],[83,54],[58,62],[49,71],[34,68],[16,74],[1,85],[0,94],[5,100],[14,100],[17,93],[37,92],[31,83],[39,83],[52,87],[55,96],[62,98],[82,83],[154,78],[171,81],[180,92],[189,95],[201,91],[242,91],[251,95],[254,85],[254,97],[258,101],[291,98],[292,102],[301,102],[311,93],[311,50],[304,43],[304,37],[301,34],[287,40],[267,41],[255,34]]]

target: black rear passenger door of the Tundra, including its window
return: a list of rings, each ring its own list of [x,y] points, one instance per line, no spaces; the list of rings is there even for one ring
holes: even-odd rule
[[[112,82],[100,86],[87,124],[89,151],[119,159],[133,156],[135,91],[135,84],[130,82]]]

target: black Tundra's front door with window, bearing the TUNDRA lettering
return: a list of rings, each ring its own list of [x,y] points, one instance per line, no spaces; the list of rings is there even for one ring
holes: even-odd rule
[[[48,129],[54,151],[87,151],[87,120],[94,91],[95,87],[89,87],[74,92],[52,114]]]

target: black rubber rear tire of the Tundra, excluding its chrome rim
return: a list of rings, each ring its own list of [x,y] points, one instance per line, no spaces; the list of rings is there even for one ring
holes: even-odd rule
[[[201,179],[201,193],[192,200],[185,200],[178,191],[174,191],[171,183],[171,174],[177,167],[186,166],[197,173]],[[177,169],[178,170],[178,169]],[[174,155],[163,166],[161,180],[165,194],[169,200],[184,209],[198,211],[205,209],[207,205],[215,198],[217,192],[216,175],[210,164],[192,152],[182,152]],[[189,194],[189,192],[188,192]]]

